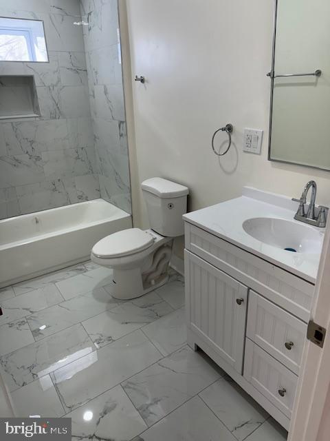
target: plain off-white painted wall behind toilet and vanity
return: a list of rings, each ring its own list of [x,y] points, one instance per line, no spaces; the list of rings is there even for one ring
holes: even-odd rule
[[[267,161],[272,0],[121,0],[120,6],[121,21],[127,6],[131,79],[147,80],[130,83],[126,75],[126,99],[133,88],[134,101],[135,224],[148,225],[137,189],[151,176],[188,185],[190,210],[239,196],[243,185],[297,197],[311,178],[318,203],[330,204],[329,172]],[[124,67],[127,50],[123,45]],[[210,139],[228,122],[233,146],[218,160]],[[242,152],[244,127],[265,130],[261,156]]]

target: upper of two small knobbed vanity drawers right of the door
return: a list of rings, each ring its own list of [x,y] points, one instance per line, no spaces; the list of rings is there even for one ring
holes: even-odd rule
[[[298,375],[307,325],[250,290],[246,335]]]

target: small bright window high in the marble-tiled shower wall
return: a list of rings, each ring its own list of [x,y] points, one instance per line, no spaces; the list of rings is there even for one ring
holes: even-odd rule
[[[47,63],[43,21],[0,17],[0,61]]]

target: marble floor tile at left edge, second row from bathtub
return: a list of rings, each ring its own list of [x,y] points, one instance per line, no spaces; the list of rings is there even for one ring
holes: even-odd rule
[[[55,285],[46,285],[43,288],[29,291],[21,296],[9,298],[1,302],[3,315],[0,316],[0,325],[30,316],[52,305],[64,301]]]

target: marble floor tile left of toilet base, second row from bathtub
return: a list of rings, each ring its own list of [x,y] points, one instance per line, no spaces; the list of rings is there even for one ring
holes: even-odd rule
[[[56,283],[56,286],[61,291],[61,294],[66,300],[78,294],[85,294],[88,291],[93,291],[98,287],[104,287],[112,283],[112,270],[109,268],[98,267],[91,271],[86,271],[76,277],[67,278],[61,282]]]

